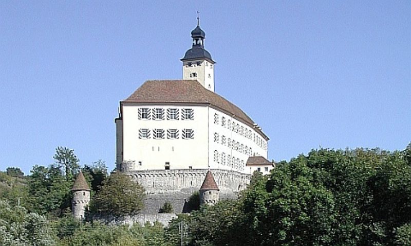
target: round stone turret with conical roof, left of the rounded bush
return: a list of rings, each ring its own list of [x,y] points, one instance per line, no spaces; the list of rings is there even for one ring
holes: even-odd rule
[[[73,199],[71,200],[71,213],[76,219],[84,219],[84,212],[90,202],[90,187],[88,186],[83,173],[77,175],[73,187]]]

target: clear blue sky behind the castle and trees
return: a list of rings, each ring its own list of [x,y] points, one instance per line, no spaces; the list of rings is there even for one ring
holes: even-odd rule
[[[411,141],[411,1],[0,1],[0,170],[57,146],[113,169],[119,101],[182,77],[197,10],[269,159]]]

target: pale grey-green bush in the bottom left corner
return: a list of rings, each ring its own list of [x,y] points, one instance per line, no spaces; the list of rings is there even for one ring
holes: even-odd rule
[[[55,237],[45,217],[0,201],[0,245],[55,245]]]

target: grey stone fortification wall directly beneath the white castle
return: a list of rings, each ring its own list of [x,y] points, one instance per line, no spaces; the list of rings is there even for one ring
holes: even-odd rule
[[[165,201],[172,204],[174,213],[188,213],[188,200],[198,191],[208,169],[172,169],[127,171],[133,180],[141,184],[147,194],[143,214],[157,213]],[[220,189],[220,199],[233,199],[238,191],[250,183],[250,174],[237,171],[210,169]]]

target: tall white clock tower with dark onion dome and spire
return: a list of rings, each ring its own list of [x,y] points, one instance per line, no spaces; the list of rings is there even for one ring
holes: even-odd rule
[[[191,31],[193,46],[185,52],[183,62],[183,79],[200,82],[206,89],[214,92],[214,64],[209,51],[204,49],[206,33],[200,28],[197,16],[197,27]]]

